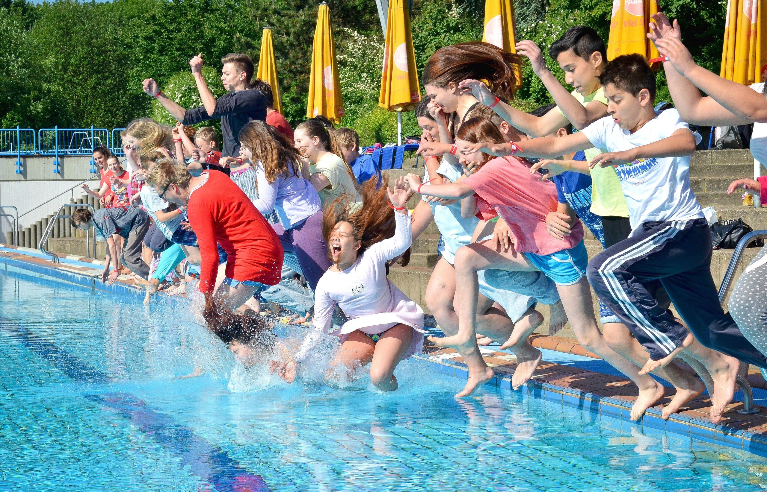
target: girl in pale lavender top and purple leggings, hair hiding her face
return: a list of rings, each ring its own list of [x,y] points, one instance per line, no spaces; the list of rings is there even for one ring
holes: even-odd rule
[[[301,155],[287,137],[262,121],[251,121],[239,134],[245,155],[254,163],[258,198],[263,215],[277,213],[273,225],[285,252],[295,251],[301,273],[314,290],[331,266],[328,244],[322,235],[322,208],[314,186],[301,177]]]

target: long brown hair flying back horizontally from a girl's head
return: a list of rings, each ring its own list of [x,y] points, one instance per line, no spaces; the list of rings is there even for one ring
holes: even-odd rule
[[[514,99],[522,77],[522,57],[481,41],[439,48],[423,68],[423,85],[446,87],[450,82],[483,80],[502,100]]]

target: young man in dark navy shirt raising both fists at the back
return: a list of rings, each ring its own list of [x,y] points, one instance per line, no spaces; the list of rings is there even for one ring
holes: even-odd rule
[[[156,97],[166,110],[185,126],[205,120],[221,118],[222,156],[239,156],[239,131],[250,120],[266,120],[266,98],[259,90],[252,90],[253,61],[246,54],[230,53],[221,59],[221,80],[229,90],[219,99],[213,97],[202,77],[202,54],[189,61],[192,67],[202,106],[186,110],[160,90],[153,79],[143,81],[143,90]]]

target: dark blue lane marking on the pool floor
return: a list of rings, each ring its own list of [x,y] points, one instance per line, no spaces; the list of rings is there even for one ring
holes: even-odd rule
[[[100,369],[73,356],[55,343],[35,336],[25,326],[0,318],[0,333],[15,340],[66,376],[82,383],[106,384],[112,379]],[[181,464],[219,492],[269,490],[260,475],[252,474],[222,448],[212,446],[193,429],[176,424],[170,416],[151,408],[129,393],[90,394],[85,398],[117,412],[150,435],[157,444],[180,459]]]

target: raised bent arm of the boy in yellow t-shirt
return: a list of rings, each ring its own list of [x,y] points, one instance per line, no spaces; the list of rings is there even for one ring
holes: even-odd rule
[[[565,118],[567,118],[576,129],[581,130],[591,123],[594,123],[594,121],[599,120],[601,117],[607,116],[607,106],[605,106],[604,103],[591,101],[591,103],[584,106],[578,102],[567,89],[565,89],[565,86],[560,84],[557,77],[555,77],[554,74],[548,70],[548,67],[546,67],[541,48],[538,48],[537,44],[532,41],[519,41],[516,48],[518,54],[530,59],[532,71],[535,75],[538,75],[543,82],[543,85],[546,86],[548,93],[550,93],[551,97],[554,99],[554,102],[557,103],[561,112],[565,114]],[[558,114],[557,110],[552,111]],[[543,117],[546,116],[548,116],[548,113]],[[551,122],[554,122],[553,116],[551,117]],[[554,131],[556,130],[559,129],[556,128]]]

